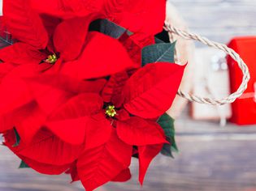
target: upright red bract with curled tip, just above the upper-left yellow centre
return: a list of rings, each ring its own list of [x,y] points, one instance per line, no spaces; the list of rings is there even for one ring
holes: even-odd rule
[[[85,45],[89,23],[95,15],[64,20],[54,32],[54,46],[64,61],[72,61],[80,55]]]

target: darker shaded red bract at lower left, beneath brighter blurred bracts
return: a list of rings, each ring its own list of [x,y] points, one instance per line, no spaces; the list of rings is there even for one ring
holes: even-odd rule
[[[60,140],[49,130],[41,129],[29,144],[24,144],[21,140],[15,154],[38,163],[63,166],[73,163],[82,151],[84,151],[83,145],[72,146]]]

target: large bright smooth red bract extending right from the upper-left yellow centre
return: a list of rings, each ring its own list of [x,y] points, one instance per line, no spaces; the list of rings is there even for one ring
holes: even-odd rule
[[[89,32],[86,43],[84,52],[76,61],[63,65],[62,74],[77,79],[94,79],[134,66],[124,47],[110,36]]]

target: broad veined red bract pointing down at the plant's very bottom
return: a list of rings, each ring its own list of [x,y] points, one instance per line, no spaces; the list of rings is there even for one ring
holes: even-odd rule
[[[85,189],[92,191],[114,179],[128,168],[131,156],[132,146],[119,140],[113,129],[111,138],[106,144],[85,150],[77,161],[78,175]]]

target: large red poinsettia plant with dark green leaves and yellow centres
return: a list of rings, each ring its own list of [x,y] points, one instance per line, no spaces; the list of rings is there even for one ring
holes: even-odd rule
[[[146,3],[146,4],[145,4]],[[0,50],[0,133],[20,168],[70,173],[86,190],[177,151],[167,115],[184,66],[162,31],[165,1],[4,1],[17,42]]]

